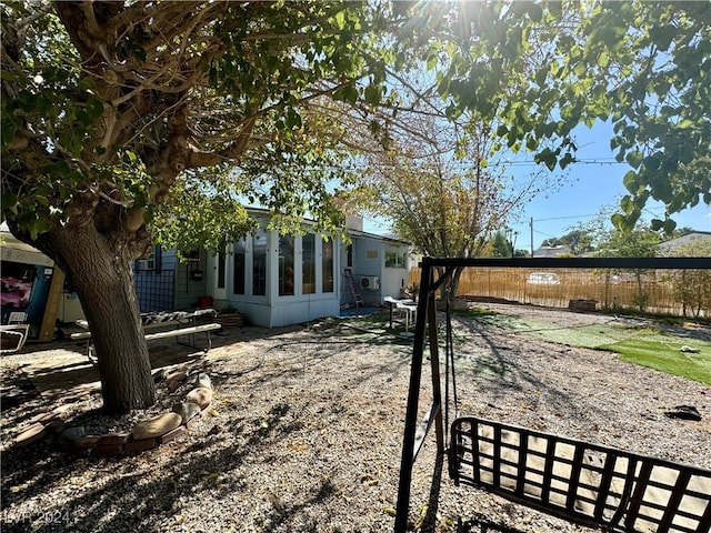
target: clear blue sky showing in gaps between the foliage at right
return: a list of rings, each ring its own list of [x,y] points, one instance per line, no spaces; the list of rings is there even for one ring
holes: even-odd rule
[[[535,249],[543,240],[562,237],[571,227],[594,219],[601,208],[617,204],[625,193],[622,178],[630,167],[614,161],[614,154],[610,150],[611,134],[609,124],[597,124],[592,129],[580,127],[575,131],[579,147],[577,157],[584,163],[570,165],[564,172],[565,182],[562,187],[538,195],[523,208],[520,221],[511,224],[518,233],[517,249],[531,249],[531,218]],[[531,159],[530,155],[520,155],[519,160],[520,158]],[[512,167],[511,173],[524,179],[534,170],[534,165],[523,164]],[[663,218],[663,213],[662,204],[648,202],[644,218]],[[672,218],[678,228],[711,231],[711,208],[708,205],[698,205]],[[365,220],[363,229],[373,233],[388,231],[385,225],[374,220]]]

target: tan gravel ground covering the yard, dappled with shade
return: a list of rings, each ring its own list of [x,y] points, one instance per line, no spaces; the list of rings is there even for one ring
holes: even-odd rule
[[[493,308],[554,326],[609,320]],[[216,389],[209,414],[181,440],[119,457],[72,459],[51,439],[12,446],[34,414],[59,403],[98,418],[98,395],[39,394],[23,371],[81,346],[4,355],[2,531],[392,531],[411,346],[388,331],[384,314],[382,326],[347,324],[354,322],[218,336],[202,361]],[[455,320],[455,336],[461,413],[711,467],[709,386],[471,320]],[[172,401],[161,393],[161,405]],[[695,405],[702,421],[664,416],[679,404]],[[414,465],[410,510],[413,531],[595,531],[455,487],[433,432]]]

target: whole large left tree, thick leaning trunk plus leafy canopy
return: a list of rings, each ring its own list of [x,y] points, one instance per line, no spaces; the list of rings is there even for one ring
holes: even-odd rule
[[[253,228],[242,197],[338,225],[342,108],[320,102],[385,95],[400,8],[3,2],[2,217],[76,288],[109,411],[154,398],[130,261],[156,237],[217,251]]]

